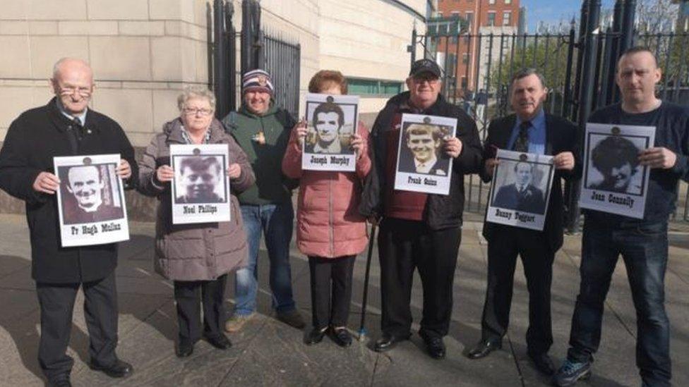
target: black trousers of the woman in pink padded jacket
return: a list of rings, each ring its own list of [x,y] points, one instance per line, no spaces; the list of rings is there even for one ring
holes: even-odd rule
[[[352,272],[356,257],[308,257],[313,328],[347,326],[349,303],[352,301]]]

